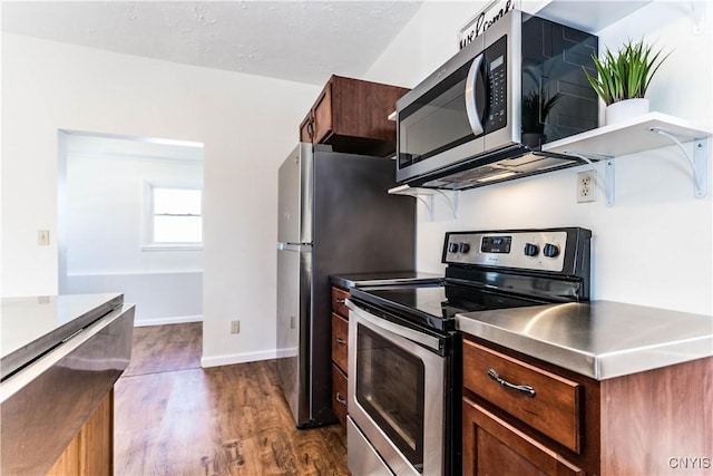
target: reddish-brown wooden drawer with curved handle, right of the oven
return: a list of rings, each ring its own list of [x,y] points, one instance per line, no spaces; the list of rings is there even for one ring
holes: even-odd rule
[[[496,381],[490,373],[502,380]],[[529,386],[534,396],[506,386]],[[582,447],[583,386],[463,340],[463,387],[574,451]]]

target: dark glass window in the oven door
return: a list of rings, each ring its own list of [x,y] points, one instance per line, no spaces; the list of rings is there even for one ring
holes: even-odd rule
[[[423,467],[421,359],[356,327],[356,400],[419,470]]]

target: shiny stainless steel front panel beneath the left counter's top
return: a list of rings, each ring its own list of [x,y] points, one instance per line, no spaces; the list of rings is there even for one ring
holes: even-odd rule
[[[46,474],[126,370],[134,304],[124,304],[0,383],[0,474]]]

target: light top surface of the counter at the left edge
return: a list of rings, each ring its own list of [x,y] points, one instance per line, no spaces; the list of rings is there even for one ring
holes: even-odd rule
[[[4,379],[123,302],[120,293],[3,298],[0,376]]]

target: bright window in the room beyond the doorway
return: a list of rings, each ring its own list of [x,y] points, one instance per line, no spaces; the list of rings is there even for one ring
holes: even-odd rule
[[[203,191],[188,186],[148,184],[147,247],[201,247]]]

